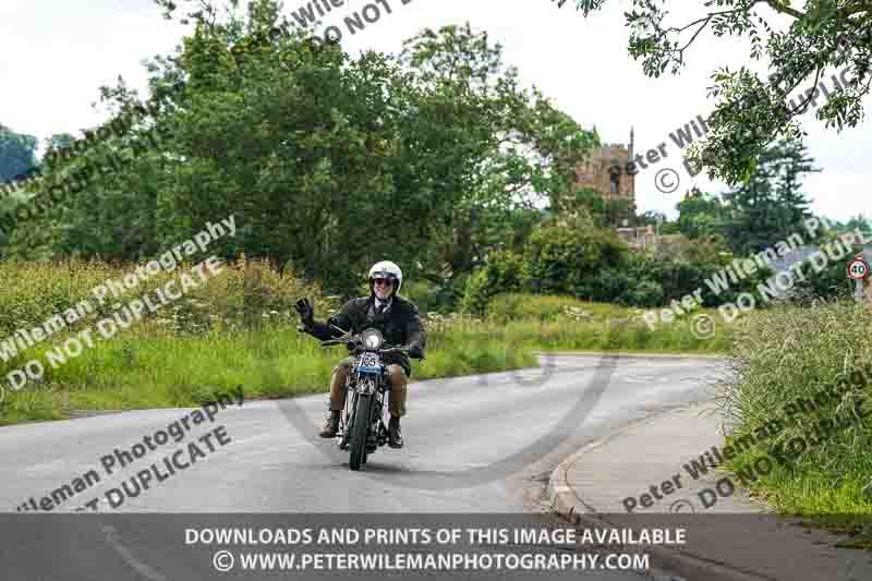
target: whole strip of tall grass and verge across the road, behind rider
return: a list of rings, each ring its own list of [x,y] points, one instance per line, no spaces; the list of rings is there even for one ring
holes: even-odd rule
[[[279,275],[244,259],[182,299],[147,315],[130,329],[57,367],[46,351],[153,292],[191,265],[160,275],[100,305],[92,290],[120,280],[135,265],[68,262],[0,263],[0,275],[14,281],[0,288],[0,341],[19,328],[88,300],[95,312],[8,362],[7,374],[38,359],[45,376],[20,391],[7,390],[0,424],[51,420],[80,410],[129,410],[197,404],[215,392],[244,386],[249,398],[277,398],[327,390],[329,374],[344,348],[323,349],[295,329],[293,303],[308,295],[319,318],[339,306],[316,286],[292,274]],[[414,300],[414,296],[411,298]],[[493,301],[483,319],[429,314],[427,360],[415,364],[413,379],[467,375],[532,366],[533,350],[639,350],[723,352],[728,337],[699,339],[678,323],[655,331],[639,312],[582,303],[559,296],[509,295]],[[93,335],[97,335],[96,331]]]

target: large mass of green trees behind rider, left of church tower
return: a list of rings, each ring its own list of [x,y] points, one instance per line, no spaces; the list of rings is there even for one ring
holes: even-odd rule
[[[17,229],[10,257],[137,261],[233,213],[238,235],[215,246],[225,258],[264,258],[342,296],[389,258],[445,308],[491,250],[520,252],[536,204],[594,143],[469,24],[427,29],[398,57],[354,57],[313,49],[271,0],[226,14],[159,4],[193,32],[148,63],[149,104],[123,83],[101,88],[113,119],[142,114],[47,168],[47,183],[93,179]]]

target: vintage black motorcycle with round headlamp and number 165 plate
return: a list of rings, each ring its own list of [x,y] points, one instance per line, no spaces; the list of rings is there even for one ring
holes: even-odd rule
[[[384,419],[390,394],[390,377],[383,355],[408,355],[409,348],[385,343],[378,329],[365,329],[359,335],[339,330],[344,334],[342,337],[322,341],[320,346],[344,344],[354,359],[353,371],[346,383],[346,389],[351,397],[346,397],[346,409],[340,416],[337,437],[340,449],[351,450],[349,468],[356,471],[361,469],[361,464],[366,463],[370,453],[388,441],[388,428]]]

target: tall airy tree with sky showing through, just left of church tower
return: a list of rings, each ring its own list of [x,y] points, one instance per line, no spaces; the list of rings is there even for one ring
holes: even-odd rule
[[[452,135],[474,153],[465,191],[450,216],[435,225],[441,242],[429,261],[434,281],[482,265],[488,250],[518,250],[541,219],[535,203],[572,189],[574,168],[596,140],[536,89],[520,86],[518,71],[502,62],[502,48],[469,23],[424,29],[403,44],[400,60],[417,81],[465,106],[468,123]]]

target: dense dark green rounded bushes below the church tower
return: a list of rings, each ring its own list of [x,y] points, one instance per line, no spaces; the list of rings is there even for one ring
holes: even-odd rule
[[[642,308],[681,301],[702,289],[703,305],[713,307],[735,302],[772,275],[761,269],[755,276],[730,281],[729,288],[716,295],[705,281],[732,259],[717,238],[681,240],[656,252],[631,252],[607,229],[546,226],[530,237],[523,257],[506,251],[493,253],[470,278],[461,308],[482,314],[493,296],[519,289]]]

